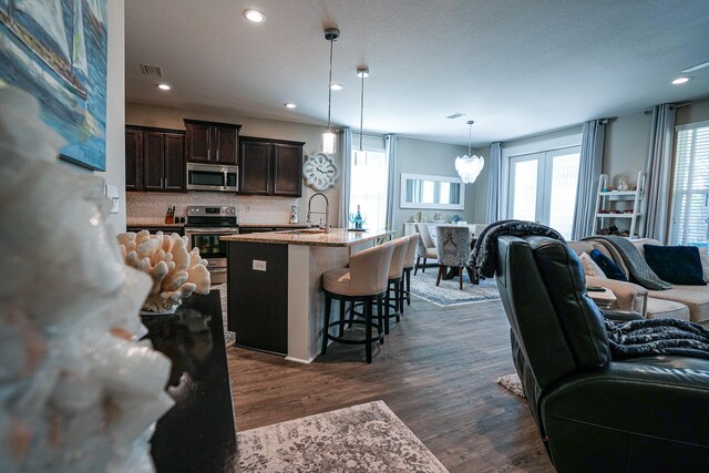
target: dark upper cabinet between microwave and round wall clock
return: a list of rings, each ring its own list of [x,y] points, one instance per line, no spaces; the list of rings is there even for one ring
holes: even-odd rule
[[[302,142],[243,136],[239,194],[300,197]]]

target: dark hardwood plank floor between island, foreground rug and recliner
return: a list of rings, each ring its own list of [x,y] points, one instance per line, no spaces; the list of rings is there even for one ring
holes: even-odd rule
[[[332,343],[310,364],[227,349],[238,431],[383,400],[451,472],[553,472],[514,371],[500,301],[439,308],[412,298],[386,343]]]

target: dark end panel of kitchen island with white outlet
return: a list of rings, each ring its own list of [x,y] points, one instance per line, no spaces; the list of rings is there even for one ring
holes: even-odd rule
[[[237,347],[288,352],[288,246],[229,241],[228,328]]]

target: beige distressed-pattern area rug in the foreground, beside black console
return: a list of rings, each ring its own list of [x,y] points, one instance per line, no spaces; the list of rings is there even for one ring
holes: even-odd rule
[[[373,401],[238,433],[242,472],[446,472]]]

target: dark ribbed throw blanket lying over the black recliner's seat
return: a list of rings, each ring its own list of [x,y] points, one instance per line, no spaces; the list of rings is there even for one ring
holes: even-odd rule
[[[610,353],[615,359],[653,354],[679,354],[709,359],[709,331],[678,319],[605,319]]]

